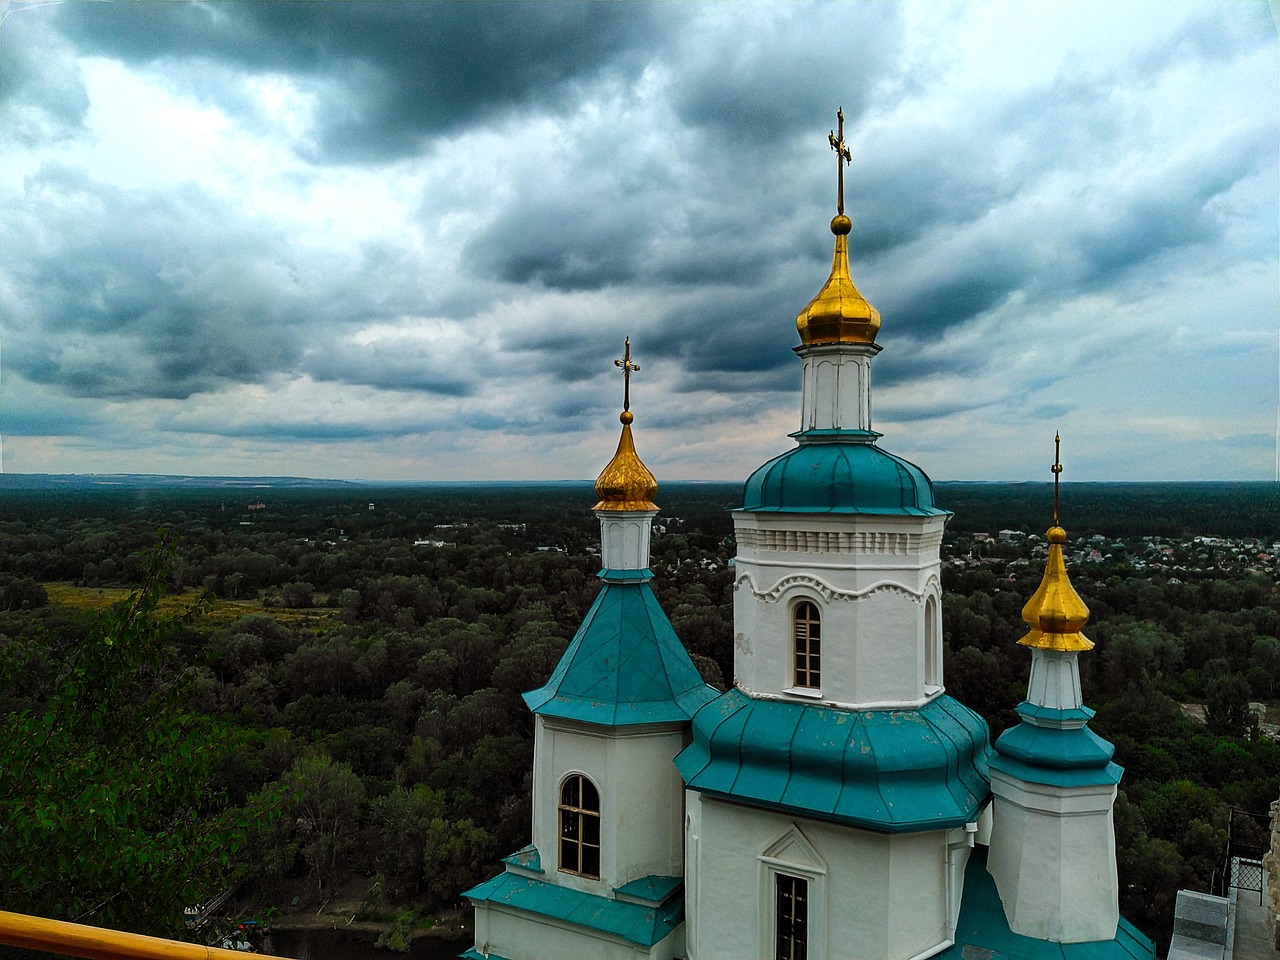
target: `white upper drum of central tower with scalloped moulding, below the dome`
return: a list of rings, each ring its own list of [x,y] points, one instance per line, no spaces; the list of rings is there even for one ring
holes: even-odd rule
[[[913,707],[942,692],[946,517],[736,511],[733,677],[753,696]],[[822,616],[822,686],[797,687],[795,604]]]

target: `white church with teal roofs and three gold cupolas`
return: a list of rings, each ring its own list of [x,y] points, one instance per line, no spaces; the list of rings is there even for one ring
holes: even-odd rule
[[[1021,722],[991,744],[946,694],[951,515],[872,428],[881,316],[849,270],[842,128],[829,141],[835,251],[796,320],[800,426],[732,515],[732,686],[703,681],[650,586],[658,484],[627,389],[595,484],[600,593],[525,694],[532,842],[463,895],[465,957],[1155,957],[1119,914],[1123,771],[1080,698],[1093,644],[1062,559],[1057,461],[1044,576],[1023,608]],[[630,340],[616,362],[628,384]]]

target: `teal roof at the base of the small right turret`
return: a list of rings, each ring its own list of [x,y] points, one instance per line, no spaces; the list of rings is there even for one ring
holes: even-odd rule
[[[938,960],[1155,960],[1156,945],[1120,918],[1116,936],[1083,943],[1055,943],[1009,929],[996,882],[987,873],[987,849],[975,847],[964,872],[955,945]]]

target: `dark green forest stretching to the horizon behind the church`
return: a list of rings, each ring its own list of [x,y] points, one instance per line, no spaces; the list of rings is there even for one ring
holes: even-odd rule
[[[739,493],[663,484],[653,541],[721,689]],[[1052,492],[937,498],[945,681],[995,739],[1025,694]],[[0,902],[183,936],[183,908],[224,892],[260,915],[343,900],[402,947],[529,842],[520,694],[599,589],[593,502],[586,483],[0,484]],[[1069,570],[1092,726],[1126,771],[1121,911],[1167,943],[1230,809],[1280,796],[1280,497],[1065,484],[1062,511],[1069,548],[1096,544]]]

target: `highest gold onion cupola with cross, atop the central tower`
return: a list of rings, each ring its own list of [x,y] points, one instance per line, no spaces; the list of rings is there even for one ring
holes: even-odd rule
[[[845,146],[845,111],[837,110],[837,131],[827,140],[836,151],[836,216],[831,232],[836,236],[836,251],[831,257],[831,276],[818,291],[818,296],[796,317],[796,329],[804,344],[818,343],[874,343],[879,333],[879,311],[858,292],[849,274],[849,232],[852,221],[845,216],[845,164],[851,159]]]

